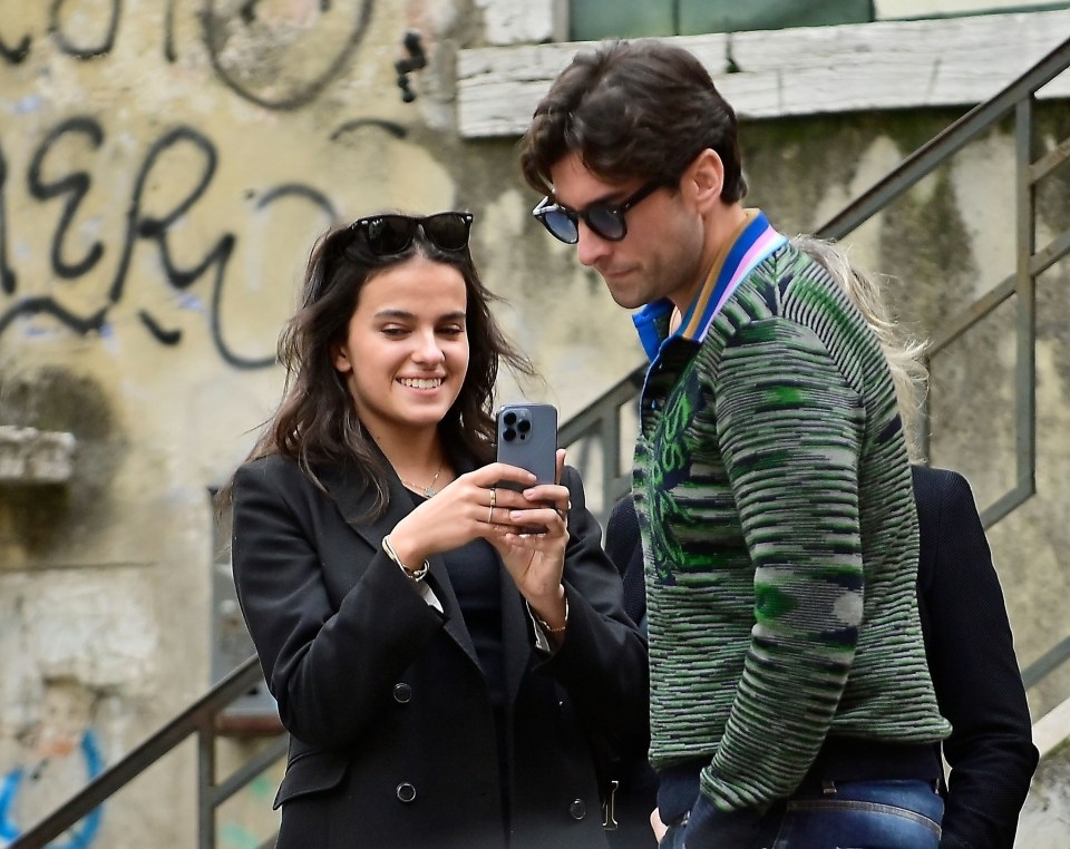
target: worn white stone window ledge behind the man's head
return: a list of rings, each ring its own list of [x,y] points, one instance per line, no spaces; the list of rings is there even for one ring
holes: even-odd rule
[[[1070,11],[879,21],[671,39],[693,51],[742,118],[973,105],[1070,36]],[[590,42],[461,50],[458,127],[521,135],[554,76]],[[728,74],[729,52],[742,70]],[[1070,97],[1063,74],[1041,97]]]

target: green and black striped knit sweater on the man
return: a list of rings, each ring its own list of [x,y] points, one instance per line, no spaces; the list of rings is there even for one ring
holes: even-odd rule
[[[917,516],[879,344],[785,245],[648,374],[635,451],[651,760],[709,759],[720,810],[790,794],[827,733],[946,736],[917,617]]]

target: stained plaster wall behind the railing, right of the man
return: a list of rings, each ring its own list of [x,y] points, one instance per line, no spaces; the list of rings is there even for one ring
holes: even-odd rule
[[[955,117],[858,115],[747,128],[752,199],[785,232],[811,230]],[[1037,124],[1044,150],[1070,137],[1064,103],[1040,108]],[[846,240],[860,262],[891,275],[889,300],[920,338],[940,335],[1014,272],[1011,134],[1006,125],[974,140]],[[820,199],[811,209],[807,197]],[[1038,186],[1037,250],[1070,226],[1068,197],[1063,164]],[[932,361],[931,461],[963,471],[982,507],[1015,485],[1016,309],[1012,297]],[[1037,495],[990,534],[1023,666],[1070,633],[1061,613],[1070,592],[1068,321],[1070,261],[1063,260],[1037,284]],[[1034,718],[1068,694],[1070,670],[1062,670],[1030,693]]]

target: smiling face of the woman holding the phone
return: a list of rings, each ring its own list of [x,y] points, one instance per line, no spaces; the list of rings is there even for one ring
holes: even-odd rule
[[[333,357],[373,436],[435,428],[454,406],[468,371],[466,308],[461,273],[418,255],[364,283]]]

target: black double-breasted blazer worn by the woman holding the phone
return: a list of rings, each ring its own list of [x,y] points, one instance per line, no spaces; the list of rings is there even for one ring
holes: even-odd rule
[[[386,515],[361,523],[353,517],[371,494],[344,468],[321,479],[330,496],[274,456],[234,480],[237,596],[291,733],[278,846],[503,847],[507,808],[510,849],[604,847],[591,739],[645,725],[646,653],[575,471],[563,476],[572,509],[558,651],[534,647],[523,597],[502,582],[500,759],[487,682],[444,564],[432,557],[426,579],[439,614],[380,547],[412,509],[408,491],[391,474]]]

